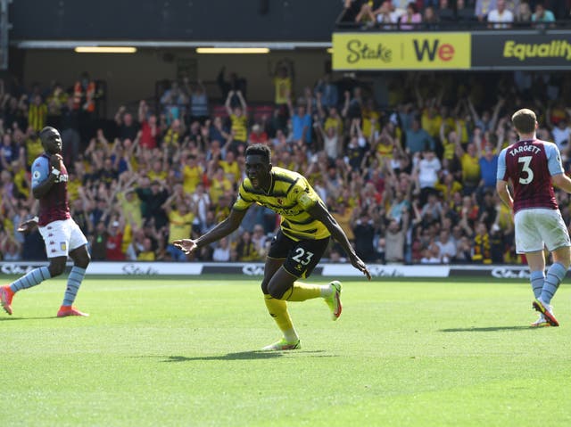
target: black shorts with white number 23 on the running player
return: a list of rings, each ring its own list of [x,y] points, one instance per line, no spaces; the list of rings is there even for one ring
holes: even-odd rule
[[[300,240],[295,242],[279,230],[269,246],[268,257],[285,259],[284,268],[295,277],[309,277],[313,268],[323,257],[329,237],[319,240]]]

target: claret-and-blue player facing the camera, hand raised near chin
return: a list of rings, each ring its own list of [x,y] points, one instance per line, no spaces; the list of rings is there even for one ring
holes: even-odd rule
[[[61,275],[69,254],[73,267],[57,316],[89,316],[73,307],[90,258],[87,238],[70,217],[68,172],[62,161],[62,136],[54,127],[44,127],[39,136],[45,152],[32,165],[32,192],[39,199],[37,225],[46,243],[50,264],[48,267],[35,268],[15,282],[0,287],[0,302],[4,311],[12,315],[14,294]],[[23,229],[33,223],[35,221],[25,223]]]

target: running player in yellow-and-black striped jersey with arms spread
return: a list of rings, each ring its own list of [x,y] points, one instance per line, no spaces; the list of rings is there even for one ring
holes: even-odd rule
[[[277,212],[282,220],[266,258],[261,291],[269,315],[284,336],[263,349],[300,349],[300,340],[287,312],[286,301],[323,298],[331,309],[333,320],[341,315],[341,283],[334,281],[318,285],[299,282],[317,266],[330,238],[341,243],[353,267],[369,280],[371,276],[343,229],[305,177],[288,169],[272,167],[269,147],[262,144],[253,144],[246,149],[245,168],[246,178],[240,185],[238,198],[228,218],[197,239],[175,240],[173,244],[189,253],[218,241],[240,226],[246,210],[253,203]]]

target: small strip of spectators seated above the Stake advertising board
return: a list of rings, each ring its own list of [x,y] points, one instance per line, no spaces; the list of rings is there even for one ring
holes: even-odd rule
[[[339,24],[363,29],[556,28],[571,4],[554,0],[344,0]]]

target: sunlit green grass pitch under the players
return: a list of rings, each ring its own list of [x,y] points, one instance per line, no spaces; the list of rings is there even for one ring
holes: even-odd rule
[[[55,318],[64,282],[0,314],[5,426],[571,424],[570,292],[534,330],[525,281],[345,281],[343,316],[291,303],[279,338],[258,279],[99,280]]]

